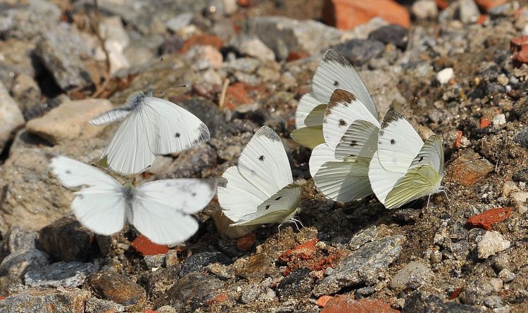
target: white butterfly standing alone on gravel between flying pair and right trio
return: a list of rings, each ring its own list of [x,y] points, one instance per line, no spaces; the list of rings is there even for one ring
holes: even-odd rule
[[[301,200],[301,186],[293,184],[288,157],[279,136],[263,126],[242,151],[238,166],[222,175],[218,186],[222,212],[236,225],[298,222],[294,215]]]

